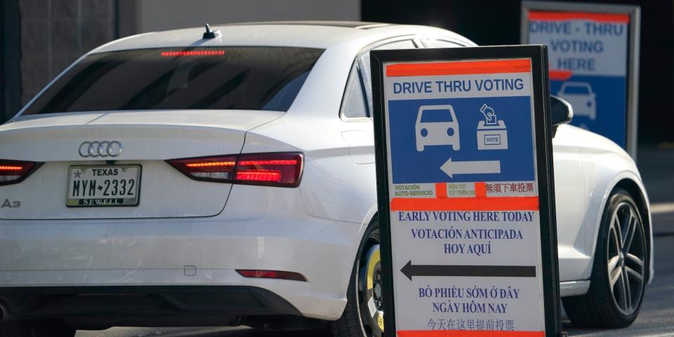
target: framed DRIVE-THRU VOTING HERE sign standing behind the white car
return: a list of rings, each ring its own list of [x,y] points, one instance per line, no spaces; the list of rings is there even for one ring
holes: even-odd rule
[[[550,93],[574,107],[571,124],[636,157],[639,7],[522,3],[522,43],[546,44]]]

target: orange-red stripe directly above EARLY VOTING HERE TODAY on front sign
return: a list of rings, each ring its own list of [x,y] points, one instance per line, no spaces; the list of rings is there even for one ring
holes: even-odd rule
[[[391,211],[538,211],[538,197],[393,198]]]

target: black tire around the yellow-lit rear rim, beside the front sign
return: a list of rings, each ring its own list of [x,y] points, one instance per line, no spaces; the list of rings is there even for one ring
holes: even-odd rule
[[[367,286],[365,285],[365,274],[368,271],[366,262],[372,260],[371,258],[367,258],[368,254],[375,249],[377,251],[376,254],[378,255],[379,223],[376,218],[372,220],[365,230],[362,242],[358,248],[346,295],[348,303],[346,303],[346,308],[344,309],[342,317],[332,323],[333,337],[381,337],[383,331],[381,300],[378,300],[376,312],[369,318],[367,317],[369,314],[369,306],[364,300],[367,296],[374,296],[372,295],[374,290],[367,289]],[[374,268],[378,268],[379,277],[381,277],[381,263],[374,264]],[[379,291],[381,296],[381,285]],[[373,324],[373,321],[379,323]]]

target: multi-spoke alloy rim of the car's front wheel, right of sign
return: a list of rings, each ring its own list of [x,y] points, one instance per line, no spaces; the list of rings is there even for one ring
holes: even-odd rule
[[[623,315],[639,308],[646,278],[646,247],[642,221],[633,204],[623,201],[611,217],[607,272],[614,304]]]

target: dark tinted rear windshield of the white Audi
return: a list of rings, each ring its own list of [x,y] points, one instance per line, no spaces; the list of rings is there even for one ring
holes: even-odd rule
[[[24,114],[106,110],[286,111],[323,51],[161,48],[89,55]]]

